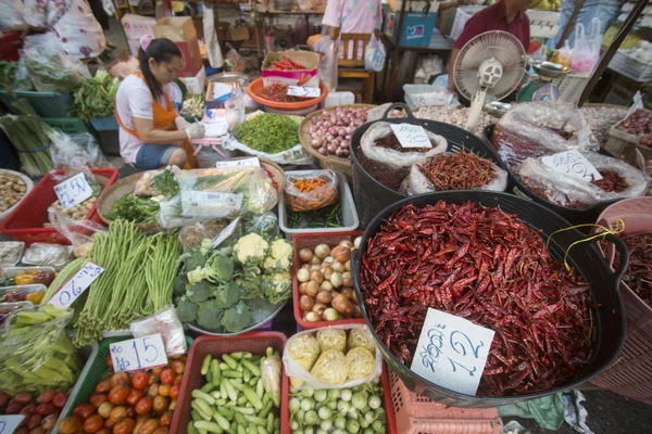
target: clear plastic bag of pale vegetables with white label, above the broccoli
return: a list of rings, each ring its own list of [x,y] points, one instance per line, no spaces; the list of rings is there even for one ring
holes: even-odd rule
[[[215,219],[272,209],[278,195],[262,167],[183,170],[178,176],[184,217]]]

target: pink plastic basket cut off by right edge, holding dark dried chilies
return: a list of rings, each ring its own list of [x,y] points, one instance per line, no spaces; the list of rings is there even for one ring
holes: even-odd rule
[[[615,229],[623,219],[625,233],[652,233],[652,197],[634,197],[617,202],[602,212],[598,224]],[[613,264],[613,248],[606,251]],[[652,307],[625,283],[620,294],[627,315],[625,345],[616,361],[591,383],[628,398],[652,405]]]

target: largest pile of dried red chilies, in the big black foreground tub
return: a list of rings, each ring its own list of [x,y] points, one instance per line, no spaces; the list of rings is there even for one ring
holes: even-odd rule
[[[515,215],[475,203],[405,205],[369,239],[361,268],[371,322],[408,366],[428,307],[496,331],[479,396],[564,385],[589,361],[589,284]]]

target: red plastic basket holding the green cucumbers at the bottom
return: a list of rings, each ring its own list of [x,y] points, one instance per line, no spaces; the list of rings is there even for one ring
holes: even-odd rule
[[[188,422],[192,420],[190,416],[191,393],[196,388],[201,388],[205,384],[203,375],[200,374],[201,363],[208,354],[221,356],[234,352],[249,352],[255,355],[264,355],[268,346],[283,354],[283,348],[287,337],[277,332],[251,332],[233,337],[225,336],[199,336],[192,342],[188,352],[186,361],[186,371],[181,379],[179,396],[177,397],[176,411],[172,418],[171,433],[186,433]],[[288,411],[288,378],[283,371],[283,382],[280,387],[280,424],[283,426],[283,414]]]

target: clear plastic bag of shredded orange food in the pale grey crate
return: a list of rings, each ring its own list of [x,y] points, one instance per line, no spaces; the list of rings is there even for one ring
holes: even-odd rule
[[[321,209],[339,199],[337,175],[333,170],[310,170],[286,176],[285,199],[293,212]]]

